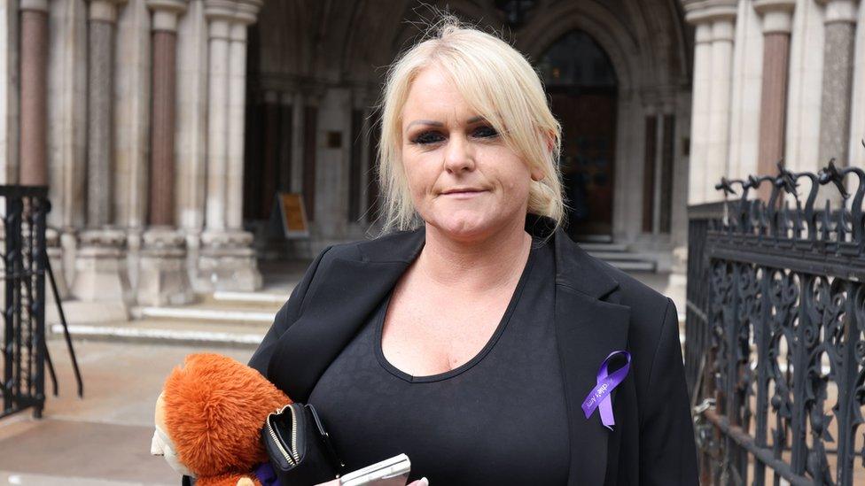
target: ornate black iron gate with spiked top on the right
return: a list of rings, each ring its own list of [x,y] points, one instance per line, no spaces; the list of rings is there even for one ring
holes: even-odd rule
[[[768,202],[749,199],[763,187]],[[717,189],[736,200],[689,214],[685,364],[703,482],[853,484],[865,475],[865,172],[779,167]],[[837,209],[815,207],[838,191]]]

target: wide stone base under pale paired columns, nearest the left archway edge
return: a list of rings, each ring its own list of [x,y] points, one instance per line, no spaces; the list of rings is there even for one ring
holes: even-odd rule
[[[200,292],[261,289],[261,273],[245,231],[205,231],[201,235],[195,289]]]

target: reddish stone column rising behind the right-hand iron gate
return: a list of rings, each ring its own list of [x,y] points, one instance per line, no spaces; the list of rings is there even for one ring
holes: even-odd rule
[[[763,25],[763,74],[760,87],[759,174],[775,174],[775,163],[783,158],[784,128],[787,112],[787,73],[790,59],[790,32],[795,0],[757,0],[754,2]],[[760,188],[768,199],[771,189]]]

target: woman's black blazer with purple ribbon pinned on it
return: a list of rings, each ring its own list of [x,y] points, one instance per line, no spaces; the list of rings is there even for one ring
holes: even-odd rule
[[[526,230],[549,235],[549,220]],[[627,274],[593,258],[558,230],[556,332],[570,430],[574,485],[697,484],[697,453],[675,307]],[[318,378],[417,257],[423,228],[331,246],[309,266],[250,359],[295,401]],[[615,350],[631,353],[612,392],[614,430],[581,404],[598,366]],[[564,425],[564,424],[563,424]]]

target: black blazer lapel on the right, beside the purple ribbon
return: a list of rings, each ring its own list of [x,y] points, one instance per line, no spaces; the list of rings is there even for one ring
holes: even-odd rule
[[[583,400],[595,388],[597,371],[612,351],[627,347],[630,307],[601,300],[618,287],[608,269],[573,243],[556,235],[556,339],[565,382],[570,436],[568,484],[604,484],[609,439],[621,435],[601,423],[599,413],[586,418]],[[611,298],[612,300],[612,298]],[[616,423],[623,420],[612,391]],[[613,441],[613,445],[620,441]]]

